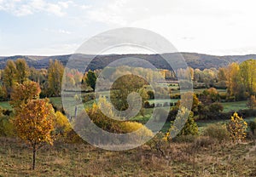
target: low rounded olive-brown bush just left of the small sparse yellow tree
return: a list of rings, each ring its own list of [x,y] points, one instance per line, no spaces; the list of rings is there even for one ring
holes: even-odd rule
[[[205,136],[209,136],[212,139],[218,140],[218,143],[229,140],[230,138],[226,126],[220,123],[208,125],[207,128],[204,129],[203,134]]]

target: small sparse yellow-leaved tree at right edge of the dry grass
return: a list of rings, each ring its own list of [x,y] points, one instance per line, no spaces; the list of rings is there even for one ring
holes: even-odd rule
[[[247,122],[242,117],[239,117],[236,112],[230,117],[230,123],[228,123],[227,128],[230,132],[230,139],[233,142],[243,140],[247,136]]]

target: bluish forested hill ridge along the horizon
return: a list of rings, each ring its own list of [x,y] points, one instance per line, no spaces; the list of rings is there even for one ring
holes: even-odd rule
[[[222,67],[227,66],[230,62],[242,62],[248,59],[256,59],[256,54],[247,54],[247,55],[209,55],[209,54],[196,54],[196,53],[181,53],[183,54],[184,59],[187,61],[188,65],[193,68],[205,69],[211,67]],[[177,57],[177,53],[168,54],[171,57]],[[55,56],[31,56],[31,55],[15,55],[9,57],[0,57],[0,69],[3,69],[7,60],[17,60],[25,59],[29,66],[35,67],[36,69],[47,68],[49,66],[49,60],[61,60],[61,62],[66,65],[67,60],[71,54],[67,55],[55,55]],[[81,60],[89,62],[90,55],[80,55]],[[107,66],[113,60],[118,60],[123,57],[136,57],[148,60],[154,66],[162,69],[170,69],[167,67],[166,61],[162,60],[159,54],[108,54],[108,55],[99,55],[90,63],[90,69],[102,69],[104,66]],[[135,64],[136,65],[136,64]]]

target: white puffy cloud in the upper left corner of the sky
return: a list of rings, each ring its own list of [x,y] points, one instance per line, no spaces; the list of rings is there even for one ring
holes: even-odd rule
[[[67,9],[71,1],[61,1],[57,3],[49,3],[45,0],[0,0],[0,10],[6,11],[16,16],[25,16],[38,12],[46,12],[55,14],[56,16],[64,16],[63,9]]]

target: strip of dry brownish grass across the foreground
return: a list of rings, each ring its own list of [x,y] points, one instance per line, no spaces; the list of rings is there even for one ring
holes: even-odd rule
[[[0,138],[0,176],[256,176],[254,145],[173,143],[162,157],[149,146],[104,151],[58,143],[38,152],[33,171],[32,151],[20,140]]]

